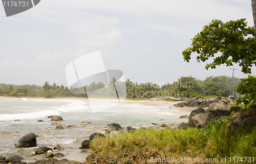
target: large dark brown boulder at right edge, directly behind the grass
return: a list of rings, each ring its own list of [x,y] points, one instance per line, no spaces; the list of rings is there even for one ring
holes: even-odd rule
[[[250,129],[252,127],[256,127],[256,110],[240,110],[231,117],[227,124],[226,133],[230,137],[232,130]]]

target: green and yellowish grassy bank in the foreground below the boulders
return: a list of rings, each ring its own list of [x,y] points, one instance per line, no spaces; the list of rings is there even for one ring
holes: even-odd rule
[[[212,121],[205,128],[189,129],[137,129],[131,133],[110,134],[106,138],[91,143],[92,156],[89,161],[98,160],[110,163],[156,163],[170,158],[200,158],[214,163],[253,163],[238,161],[236,157],[254,157],[256,161],[256,129],[249,132],[235,132],[228,139],[228,120]],[[169,158],[167,158],[169,157]],[[221,162],[226,157],[226,162]],[[231,162],[230,158],[231,157]],[[234,158],[233,158],[234,157]],[[235,161],[233,161],[235,160]],[[239,159],[241,160],[241,158]],[[170,162],[175,163],[175,162]],[[182,162],[181,162],[182,163]],[[191,163],[191,162],[190,162]],[[197,163],[197,162],[195,162]],[[211,163],[211,162],[199,162]]]

